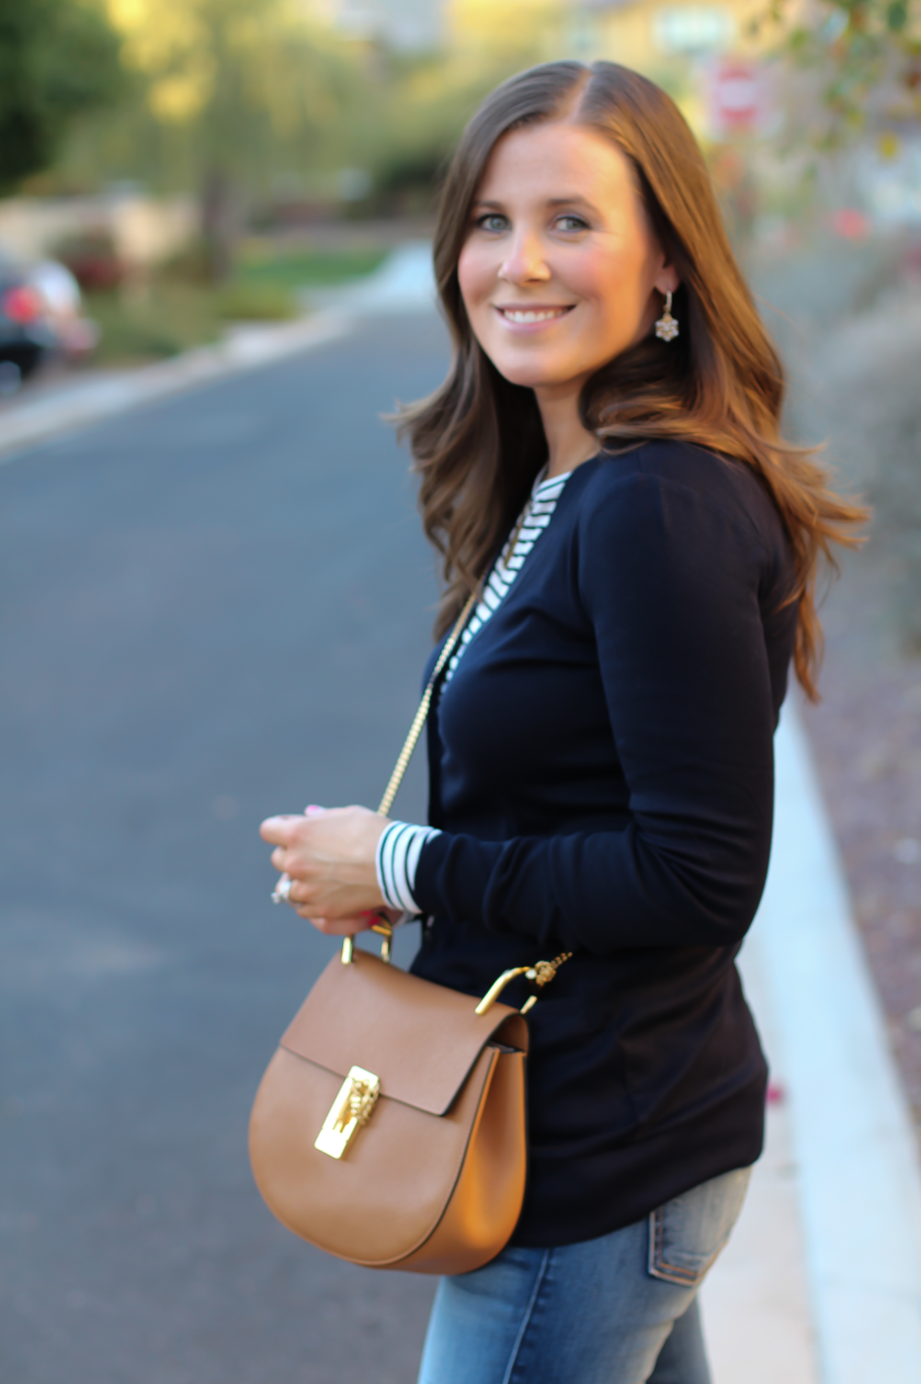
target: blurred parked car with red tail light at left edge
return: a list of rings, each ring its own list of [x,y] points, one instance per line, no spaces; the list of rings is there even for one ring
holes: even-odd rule
[[[98,328],[83,316],[80,288],[64,264],[0,259],[0,394],[14,393],[43,361],[77,360],[97,340]]]

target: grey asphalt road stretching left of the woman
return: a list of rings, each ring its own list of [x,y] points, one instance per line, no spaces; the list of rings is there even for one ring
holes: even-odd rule
[[[383,790],[434,581],[378,415],[445,360],[376,320],[0,469],[3,1384],[415,1378],[433,1284],[283,1230],[246,1121],[332,949],[256,828]]]

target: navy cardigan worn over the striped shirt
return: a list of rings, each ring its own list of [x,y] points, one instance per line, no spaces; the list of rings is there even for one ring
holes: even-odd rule
[[[668,441],[596,457],[430,716],[441,835],[412,970],[481,995],[574,952],[528,1017],[513,1243],[606,1235],[761,1153],[734,958],[768,871],[791,588],[751,468]]]

